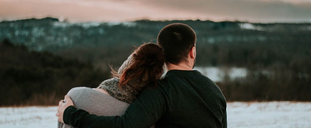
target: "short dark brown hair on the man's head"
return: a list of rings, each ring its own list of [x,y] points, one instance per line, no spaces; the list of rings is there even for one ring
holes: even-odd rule
[[[165,63],[179,64],[186,60],[196,42],[196,34],[186,24],[174,23],[165,26],[158,34],[157,42],[164,50]]]

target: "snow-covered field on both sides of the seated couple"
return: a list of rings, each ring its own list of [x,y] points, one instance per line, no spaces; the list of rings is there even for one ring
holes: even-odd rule
[[[0,108],[0,128],[55,128],[56,107]],[[230,102],[228,128],[308,128],[311,102]]]

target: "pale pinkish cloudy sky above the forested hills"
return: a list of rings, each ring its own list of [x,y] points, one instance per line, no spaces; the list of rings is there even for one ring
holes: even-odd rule
[[[311,0],[0,0],[0,21],[212,20],[311,23]]]

